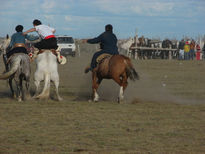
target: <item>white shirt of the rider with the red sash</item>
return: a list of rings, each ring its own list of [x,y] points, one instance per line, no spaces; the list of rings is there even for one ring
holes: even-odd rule
[[[51,28],[51,27],[46,26],[46,25],[38,25],[38,26],[35,26],[35,28],[36,28],[36,31],[38,32],[38,34],[43,39],[49,35],[53,35],[53,31],[55,30],[54,28]]]

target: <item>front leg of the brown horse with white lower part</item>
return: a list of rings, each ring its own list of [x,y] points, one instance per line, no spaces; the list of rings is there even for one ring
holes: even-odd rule
[[[93,84],[92,84],[92,89],[93,89],[93,101],[98,102],[99,101],[99,95],[97,93],[97,89],[102,81],[102,79],[97,78],[97,74],[95,71],[93,71],[92,74],[92,79],[93,79]]]

